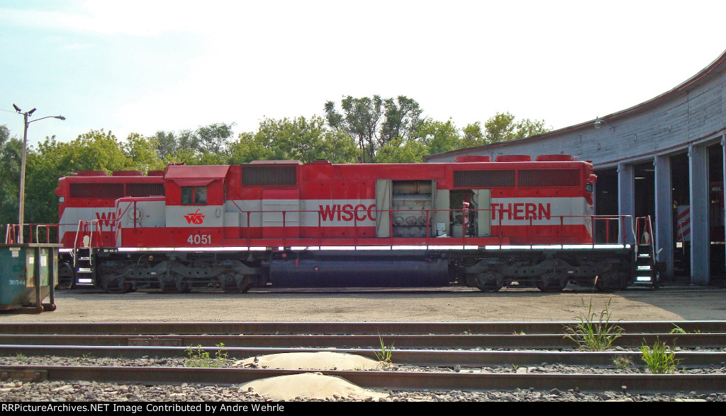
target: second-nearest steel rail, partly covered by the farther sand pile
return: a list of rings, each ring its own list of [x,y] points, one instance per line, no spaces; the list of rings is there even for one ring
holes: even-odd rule
[[[196,350],[196,349],[194,349]],[[212,357],[220,349],[205,348]],[[25,357],[92,357],[92,358],[187,358],[188,347],[181,346],[28,346],[0,345],[0,356],[22,354]],[[375,349],[302,349],[302,348],[224,348],[228,359],[245,359],[269,354],[299,352],[335,352],[355,354],[377,359]],[[394,349],[393,362],[396,365],[418,365],[453,367],[482,366],[542,366],[549,364],[587,365],[615,367],[613,359],[627,357],[632,362],[641,362],[640,351],[460,351],[460,350],[418,350]],[[680,360],[679,367],[724,367],[726,351],[676,351],[674,358]],[[637,364],[635,365],[637,367]]]

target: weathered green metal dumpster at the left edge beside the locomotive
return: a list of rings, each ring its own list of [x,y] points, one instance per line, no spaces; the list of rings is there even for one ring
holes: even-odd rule
[[[60,244],[0,244],[0,310],[55,310]],[[42,301],[50,296],[50,303]]]

